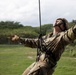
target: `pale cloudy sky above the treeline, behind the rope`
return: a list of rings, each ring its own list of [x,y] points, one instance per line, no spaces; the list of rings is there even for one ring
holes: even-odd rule
[[[39,26],[39,0],[0,0],[0,21]],[[76,0],[40,0],[41,24],[53,24],[57,18],[76,20]]]

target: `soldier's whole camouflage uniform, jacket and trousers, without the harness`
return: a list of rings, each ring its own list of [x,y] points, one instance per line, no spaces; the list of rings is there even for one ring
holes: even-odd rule
[[[51,53],[41,52],[39,60],[29,66],[22,75],[52,75],[57,61],[60,59],[66,45],[74,41],[76,38],[76,26],[57,35],[48,34],[43,36],[46,46],[54,54],[55,61],[51,57]],[[23,39],[20,42],[29,47],[37,47],[38,39]],[[44,43],[42,43],[44,45]]]

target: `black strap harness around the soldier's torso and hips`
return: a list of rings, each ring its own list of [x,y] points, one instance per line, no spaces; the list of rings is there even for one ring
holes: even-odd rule
[[[56,37],[53,39],[53,41],[56,39]],[[44,43],[44,44],[43,44]],[[41,53],[45,53],[45,58],[48,58],[49,64],[51,63],[51,67],[54,67],[56,65],[56,57],[53,53],[53,42],[50,42],[48,45],[44,42],[44,39],[40,35],[38,38],[38,48],[37,48],[37,59],[36,61],[39,61]],[[51,61],[51,62],[50,62]]]

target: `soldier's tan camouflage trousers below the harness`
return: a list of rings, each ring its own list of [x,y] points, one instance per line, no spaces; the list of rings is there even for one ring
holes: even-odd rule
[[[52,75],[55,67],[49,68],[45,62],[34,62],[30,65],[22,75]]]

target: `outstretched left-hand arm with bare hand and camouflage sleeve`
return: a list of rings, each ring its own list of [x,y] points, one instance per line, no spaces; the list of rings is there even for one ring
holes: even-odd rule
[[[14,35],[11,38],[12,41],[19,41],[20,43],[24,44],[25,46],[36,48],[38,46],[38,39],[30,39],[30,38],[22,38],[17,35]]]

